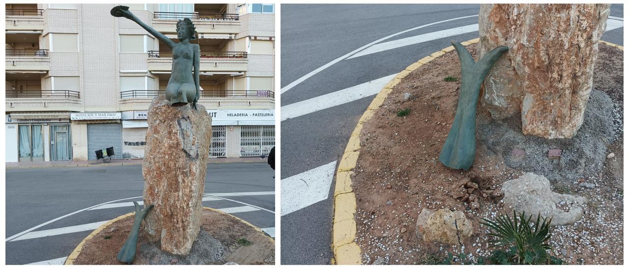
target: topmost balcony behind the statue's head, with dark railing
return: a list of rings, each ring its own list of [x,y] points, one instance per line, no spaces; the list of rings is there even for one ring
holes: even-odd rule
[[[161,33],[177,33],[177,21],[189,18],[198,33],[237,34],[240,32],[238,14],[228,13],[182,13],[161,12],[153,13],[153,28]]]

